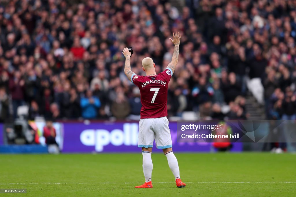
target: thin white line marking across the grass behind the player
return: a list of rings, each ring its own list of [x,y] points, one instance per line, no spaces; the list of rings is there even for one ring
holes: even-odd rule
[[[138,182],[125,182],[124,184],[137,184]],[[167,184],[167,183],[173,183],[173,182],[154,182],[157,184]],[[201,181],[201,182],[186,182],[186,183],[296,183],[291,181],[285,181],[285,182],[228,182],[228,181]],[[48,185],[64,185],[64,184],[120,184],[115,182],[104,182],[104,183],[0,183],[0,185],[38,185],[38,184],[48,184]]]

